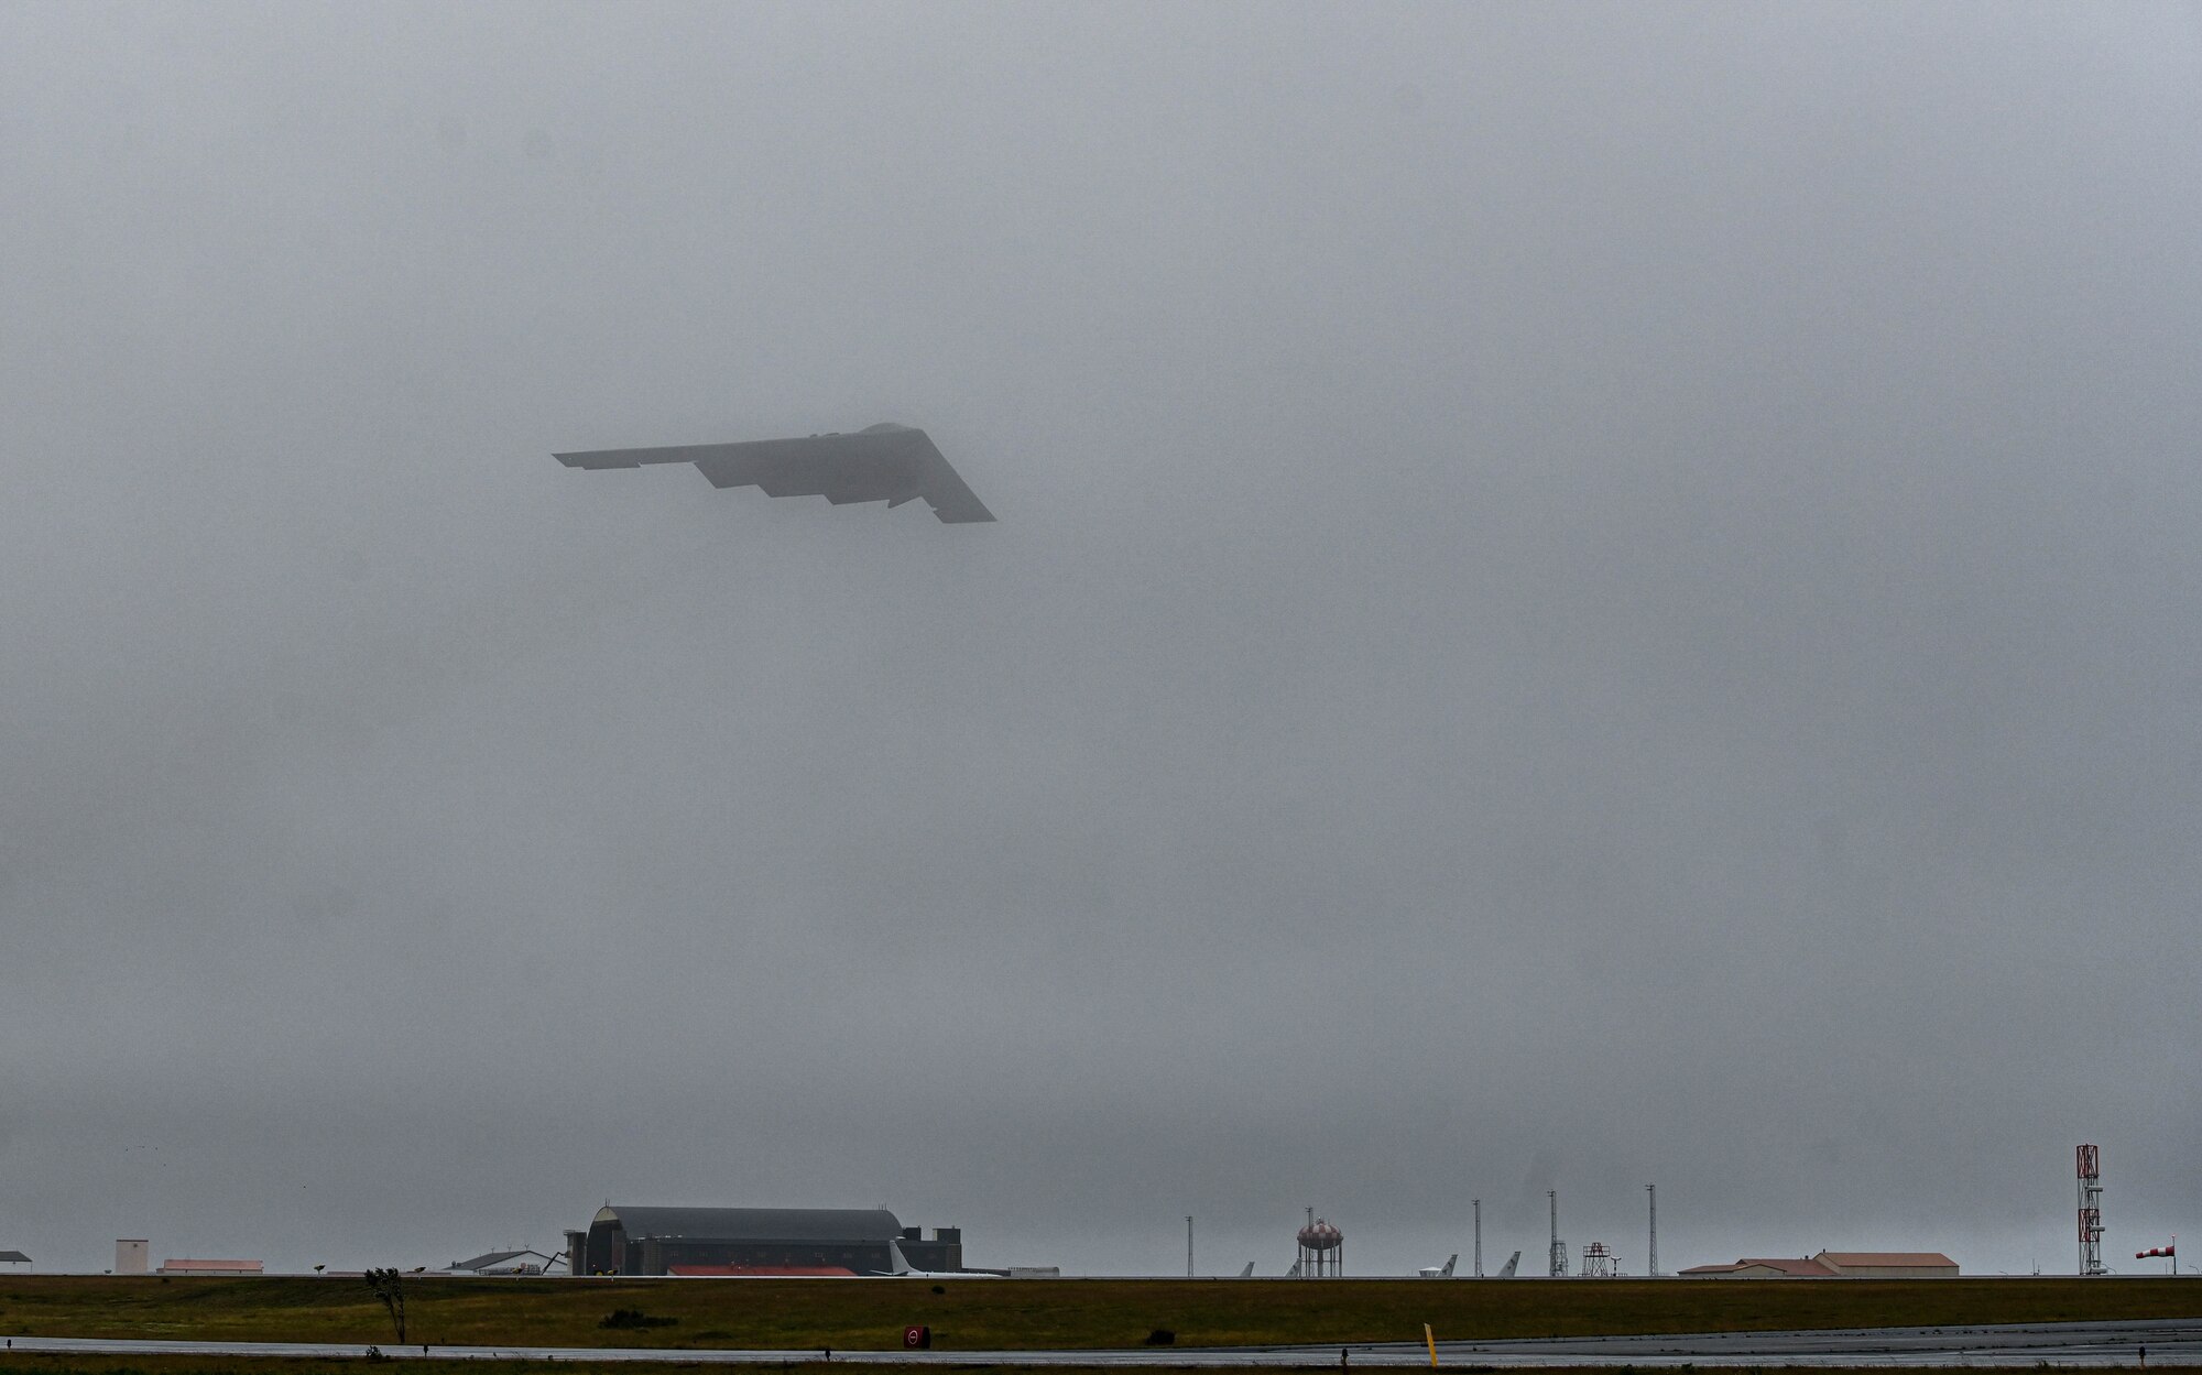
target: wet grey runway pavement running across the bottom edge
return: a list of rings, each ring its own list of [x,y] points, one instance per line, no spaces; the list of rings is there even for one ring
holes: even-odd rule
[[[11,1338],[13,1351],[84,1355],[304,1355],[359,1357],[341,1342],[167,1342],[119,1338]],[[385,1355],[445,1360],[683,1362],[777,1366],[821,1362],[810,1351],[667,1351],[641,1346],[396,1346]],[[1438,1342],[1449,1368],[1539,1366],[2202,1366],[2202,1320],[2037,1322],[2008,1327],[1863,1327],[1845,1331],[1682,1333],[1638,1338],[1533,1338]],[[837,1362],[909,1366],[1279,1366],[1341,1364],[1339,1346],[1136,1346],[1127,1351],[837,1351]],[[1350,1344],[1345,1366],[1427,1366],[1420,1342]]]

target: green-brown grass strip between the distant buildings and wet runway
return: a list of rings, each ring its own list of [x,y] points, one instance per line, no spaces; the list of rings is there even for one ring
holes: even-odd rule
[[[407,1342],[949,1351],[1414,1342],[1594,1333],[2202,1318],[2202,1282],[1982,1280],[447,1280],[412,1278]],[[663,1327],[603,1329],[614,1309]],[[359,1278],[0,1278],[0,1333],[392,1342]],[[258,1366],[255,1366],[258,1368]]]

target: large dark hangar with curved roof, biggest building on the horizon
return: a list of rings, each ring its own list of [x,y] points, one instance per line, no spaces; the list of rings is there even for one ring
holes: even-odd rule
[[[962,1230],[905,1227],[885,1208],[628,1208],[606,1203],[566,1234],[570,1269],[636,1276],[890,1274],[962,1269]]]

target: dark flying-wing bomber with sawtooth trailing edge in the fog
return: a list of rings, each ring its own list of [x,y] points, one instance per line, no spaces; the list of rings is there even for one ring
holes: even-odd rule
[[[566,467],[641,467],[694,463],[713,487],[762,487],[766,496],[824,496],[832,505],[883,500],[898,507],[925,498],[947,524],[993,520],[923,430],[881,423],[857,434],[760,439],[669,450],[592,450],[555,454]]]

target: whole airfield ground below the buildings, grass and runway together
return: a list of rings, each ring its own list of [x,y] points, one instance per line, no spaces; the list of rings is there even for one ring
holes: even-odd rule
[[[652,1327],[608,1329],[612,1311]],[[934,1346],[905,1351],[903,1329]],[[1958,1368],[2202,1364],[2202,1282],[1964,1280],[0,1280],[0,1371],[590,1364],[953,1368]],[[1167,1333],[1163,1344],[1158,1338]],[[423,1351],[423,1344],[427,1351]],[[227,1362],[227,1364],[222,1364]]]

